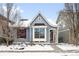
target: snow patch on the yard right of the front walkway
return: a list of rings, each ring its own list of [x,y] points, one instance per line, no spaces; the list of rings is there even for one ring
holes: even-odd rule
[[[59,48],[61,48],[62,50],[78,50],[79,51],[79,46],[74,46],[73,44],[59,44],[56,45]]]

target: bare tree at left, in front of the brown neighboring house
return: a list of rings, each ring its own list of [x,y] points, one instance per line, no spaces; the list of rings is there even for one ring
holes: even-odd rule
[[[14,8],[14,4],[13,3],[6,3],[5,4],[5,7],[6,7],[6,18],[10,21],[12,21],[12,23],[14,21],[16,21],[20,16],[18,14],[18,11],[16,10],[16,6]],[[14,9],[13,9],[14,8]],[[1,11],[4,11],[3,9]],[[4,15],[3,12],[1,12],[2,15]],[[4,26],[3,26],[3,32],[5,35],[3,35],[4,38],[6,38],[6,44],[7,46],[9,45],[9,41],[13,39],[13,29],[9,27],[9,22],[7,21],[7,24],[6,24],[6,29],[4,29]]]

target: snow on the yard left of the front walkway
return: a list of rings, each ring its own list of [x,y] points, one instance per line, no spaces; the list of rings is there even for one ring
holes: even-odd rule
[[[48,51],[54,50],[50,45],[10,45],[7,46],[0,46],[0,51]]]

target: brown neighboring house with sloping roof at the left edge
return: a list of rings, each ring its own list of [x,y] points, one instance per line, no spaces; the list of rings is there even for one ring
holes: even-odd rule
[[[4,37],[4,30],[7,30],[7,22],[13,23],[8,20],[5,16],[0,15],[0,37]]]

